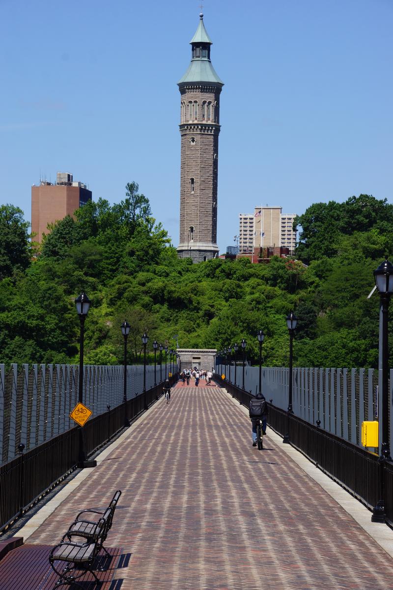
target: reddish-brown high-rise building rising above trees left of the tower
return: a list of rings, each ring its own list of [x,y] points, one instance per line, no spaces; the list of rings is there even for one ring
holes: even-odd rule
[[[56,183],[41,180],[31,187],[31,231],[34,241],[42,242],[48,224],[74,215],[76,209],[91,201],[91,191],[82,182],[75,182],[69,172],[58,172]]]

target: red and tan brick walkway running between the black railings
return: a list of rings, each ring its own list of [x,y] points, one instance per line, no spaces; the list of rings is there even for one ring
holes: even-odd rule
[[[180,384],[28,542],[120,488],[107,543],[132,555],[116,590],[393,590],[388,554],[269,430],[264,445],[219,388]]]

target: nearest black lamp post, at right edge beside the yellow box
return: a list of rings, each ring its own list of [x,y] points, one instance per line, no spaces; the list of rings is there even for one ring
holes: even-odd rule
[[[391,461],[389,448],[389,348],[388,348],[388,319],[389,301],[393,293],[393,266],[385,257],[384,262],[374,271],[375,284],[377,285],[382,308],[382,428],[381,428],[381,454],[379,463],[379,493],[380,499],[377,506],[372,509],[372,522],[385,522],[386,520],[386,483],[385,464]]]

